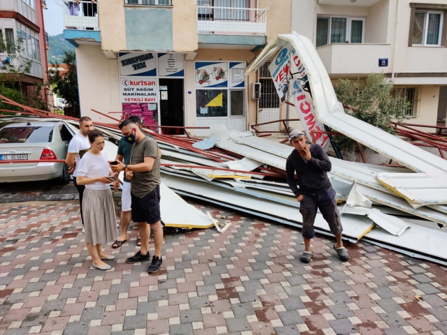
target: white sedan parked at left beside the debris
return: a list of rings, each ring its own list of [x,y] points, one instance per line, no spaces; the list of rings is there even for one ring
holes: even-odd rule
[[[68,143],[75,135],[61,121],[29,121],[8,124],[0,129],[0,161],[41,161],[39,163],[0,163],[0,183],[57,179],[68,184],[65,163]]]

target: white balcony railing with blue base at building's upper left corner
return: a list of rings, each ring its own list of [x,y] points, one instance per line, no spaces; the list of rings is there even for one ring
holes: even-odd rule
[[[64,0],[65,29],[99,30],[98,3]]]

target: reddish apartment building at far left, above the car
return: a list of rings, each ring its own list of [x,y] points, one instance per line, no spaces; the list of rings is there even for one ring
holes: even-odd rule
[[[0,1],[0,73],[5,71],[11,54],[17,54],[16,61],[29,61],[31,68],[22,82],[31,94],[34,83],[47,82],[47,34],[43,24],[44,0],[2,0]],[[20,41],[22,47],[17,48]],[[18,54],[17,49],[22,50]],[[44,92],[46,93],[46,92]],[[46,96],[46,94],[45,94]]]

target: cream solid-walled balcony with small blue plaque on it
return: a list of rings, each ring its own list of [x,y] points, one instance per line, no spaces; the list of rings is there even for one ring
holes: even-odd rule
[[[316,51],[331,78],[388,73],[392,65],[389,44],[332,43],[317,47]],[[379,59],[388,59],[388,67],[380,67]]]

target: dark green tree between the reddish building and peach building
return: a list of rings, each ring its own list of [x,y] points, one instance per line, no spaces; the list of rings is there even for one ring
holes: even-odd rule
[[[79,91],[78,91],[78,74],[76,73],[76,54],[75,51],[65,51],[64,64],[67,65],[67,72],[64,75],[59,73],[59,64],[52,63],[52,67],[56,70],[50,70],[50,83],[54,87],[54,91],[58,96],[65,99],[69,107],[73,107],[76,116],[79,114]]]

